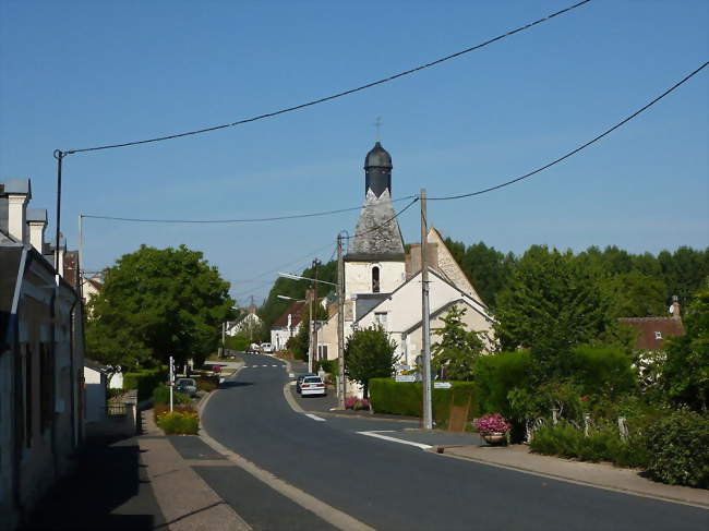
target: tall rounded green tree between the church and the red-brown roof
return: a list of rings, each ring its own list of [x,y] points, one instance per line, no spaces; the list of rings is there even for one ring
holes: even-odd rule
[[[517,264],[497,297],[495,317],[503,350],[530,348],[546,376],[568,371],[572,348],[590,342],[608,324],[597,282],[570,251],[539,245]]]

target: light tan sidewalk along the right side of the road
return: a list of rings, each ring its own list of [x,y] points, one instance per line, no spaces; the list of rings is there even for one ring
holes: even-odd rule
[[[433,451],[440,448],[433,448]],[[709,509],[709,491],[665,485],[648,480],[641,471],[610,463],[573,461],[531,454],[525,445],[443,447],[444,455],[520,470],[556,480],[570,481],[639,496],[680,502]]]

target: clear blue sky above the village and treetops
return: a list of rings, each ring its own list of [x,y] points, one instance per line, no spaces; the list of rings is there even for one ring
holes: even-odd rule
[[[0,180],[29,178],[55,218],[55,149],[229,123],[477,45],[574,3],[0,2]],[[587,142],[709,57],[706,0],[593,0],[450,61],[334,101],[167,142],[69,155],[62,231],[79,215],[233,219],[356,207],[376,138],[393,196],[473,192]],[[658,253],[709,245],[709,68],[611,135],[520,183],[429,202],[466,244]],[[401,207],[405,202],[397,203]],[[185,244],[259,303],[278,270],[331,258],[358,212],[267,224],[84,219],[84,264]],[[399,224],[420,237],[418,206]],[[53,234],[53,221],[49,232]]]

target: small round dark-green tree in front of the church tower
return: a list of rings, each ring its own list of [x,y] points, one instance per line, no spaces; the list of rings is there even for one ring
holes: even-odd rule
[[[363,387],[369,396],[371,378],[386,378],[394,372],[396,343],[381,326],[354,330],[345,346],[347,376]]]

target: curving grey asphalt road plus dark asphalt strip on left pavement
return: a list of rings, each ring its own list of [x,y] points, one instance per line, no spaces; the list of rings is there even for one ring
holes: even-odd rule
[[[360,419],[319,421],[296,413],[284,399],[289,378],[283,362],[256,354],[243,358],[247,367],[203,411],[203,426],[209,435],[373,528],[709,529],[709,511],[704,509],[440,456],[357,433],[363,422],[372,431],[400,430],[400,425]],[[243,472],[203,478],[254,529],[328,528],[263,484],[243,488],[248,481]],[[237,491],[239,496],[231,496]],[[244,514],[251,504],[261,506],[271,498],[275,504],[271,517],[261,511],[256,521]]]

